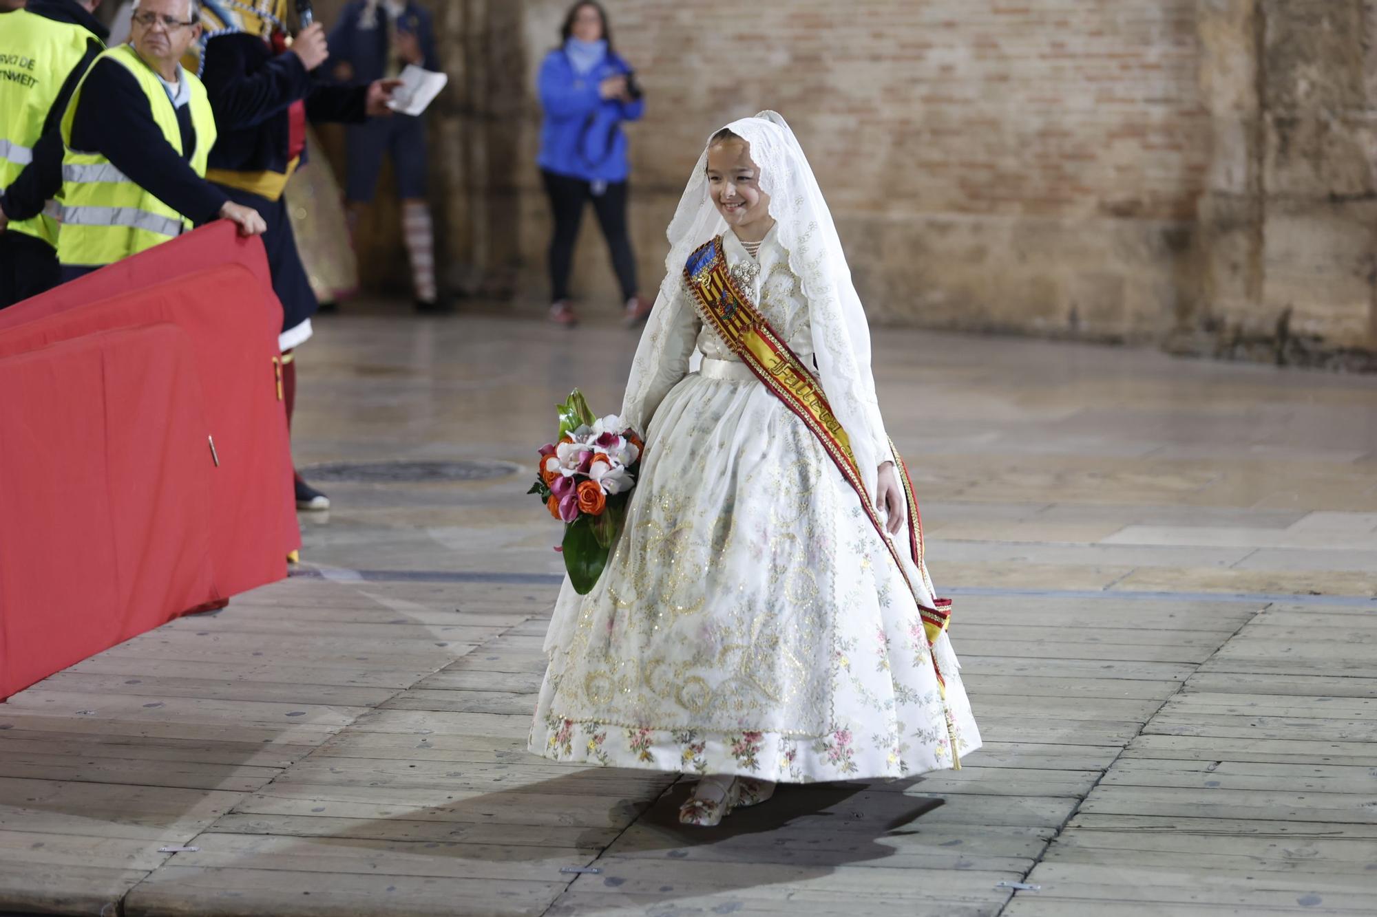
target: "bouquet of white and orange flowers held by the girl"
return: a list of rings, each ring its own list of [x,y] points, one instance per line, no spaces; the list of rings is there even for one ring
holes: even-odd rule
[[[540,447],[540,471],[526,493],[540,496],[549,515],[565,523],[556,551],[565,555],[574,591],[588,595],[627,518],[644,443],[621,417],[595,417],[577,388],[555,408],[559,442]]]

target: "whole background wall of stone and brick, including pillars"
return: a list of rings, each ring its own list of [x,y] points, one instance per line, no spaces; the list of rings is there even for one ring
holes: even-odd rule
[[[566,4],[430,6],[453,77],[432,117],[450,280],[540,303],[549,219],[533,84]],[[649,102],[627,128],[647,292],[704,138],[774,107],[808,151],[876,322],[1170,336],[1209,352],[1281,322],[1321,347],[1377,346],[1377,14],[1362,0],[609,6]],[[574,288],[585,311],[613,314],[591,213]]]

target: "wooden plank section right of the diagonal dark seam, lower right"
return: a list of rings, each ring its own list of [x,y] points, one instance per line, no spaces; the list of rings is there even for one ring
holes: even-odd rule
[[[1254,615],[1129,744],[1033,870],[1042,889],[1007,913],[1118,913],[1104,906],[1124,883],[1172,913],[1373,913],[1374,643],[1371,611]]]

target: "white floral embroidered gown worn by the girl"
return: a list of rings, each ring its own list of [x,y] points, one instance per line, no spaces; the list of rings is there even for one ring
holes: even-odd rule
[[[730,231],[723,249],[810,362],[808,304],[775,235],[759,260]],[[947,636],[929,650],[913,593],[818,439],[693,307],[679,314],[625,529],[592,592],[566,582],[559,596],[555,626],[569,624],[552,632],[530,750],[784,782],[953,767],[953,746],[980,738]]]

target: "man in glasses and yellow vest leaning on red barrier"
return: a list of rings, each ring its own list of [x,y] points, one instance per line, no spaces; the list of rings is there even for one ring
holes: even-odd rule
[[[244,235],[264,230],[205,180],[215,117],[180,63],[201,37],[198,14],[197,0],[138,0],[129,44],[96,58],[73,94],[62,118],[63,281],[216,218]]]

